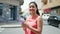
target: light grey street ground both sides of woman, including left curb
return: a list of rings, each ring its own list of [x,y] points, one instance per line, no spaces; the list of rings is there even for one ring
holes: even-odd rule
[[[0,34],[24,34],[24,31],[21,28],[21,25],[10,24],[0,26]],[[44,24],[42,34],[60,34],[60,29]]]

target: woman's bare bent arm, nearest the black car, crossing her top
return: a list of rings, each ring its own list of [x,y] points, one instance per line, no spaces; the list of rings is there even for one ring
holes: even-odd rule
[[[32,26],[29,26],[27,24],[26,25],[34,33],[41,33],[41,31],[42,31],[42,25],[43,25],[42,23],[43,23],[42,22],[42,18],[41,17],[38,17],[38,19],[37,19],[37,29],[36,28],[33,28]]]

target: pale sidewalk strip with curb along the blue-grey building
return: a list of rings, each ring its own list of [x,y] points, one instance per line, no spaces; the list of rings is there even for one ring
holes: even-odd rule
[[[21,27],[21,24],[18,21],[1,22],[0,27],[2,27],[2,28]]]

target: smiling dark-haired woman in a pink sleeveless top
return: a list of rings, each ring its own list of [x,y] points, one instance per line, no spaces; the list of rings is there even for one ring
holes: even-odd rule
[[[38,7],[35,2],[29,4],[29,12],[31,16],[22,24],[25,34],[41,34],[43,22],[41,16],[39,16]]]

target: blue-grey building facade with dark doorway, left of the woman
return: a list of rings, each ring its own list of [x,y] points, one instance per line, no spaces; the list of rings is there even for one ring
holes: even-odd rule
[[[23,0],[0,0],[0,21],[18,20]]]

